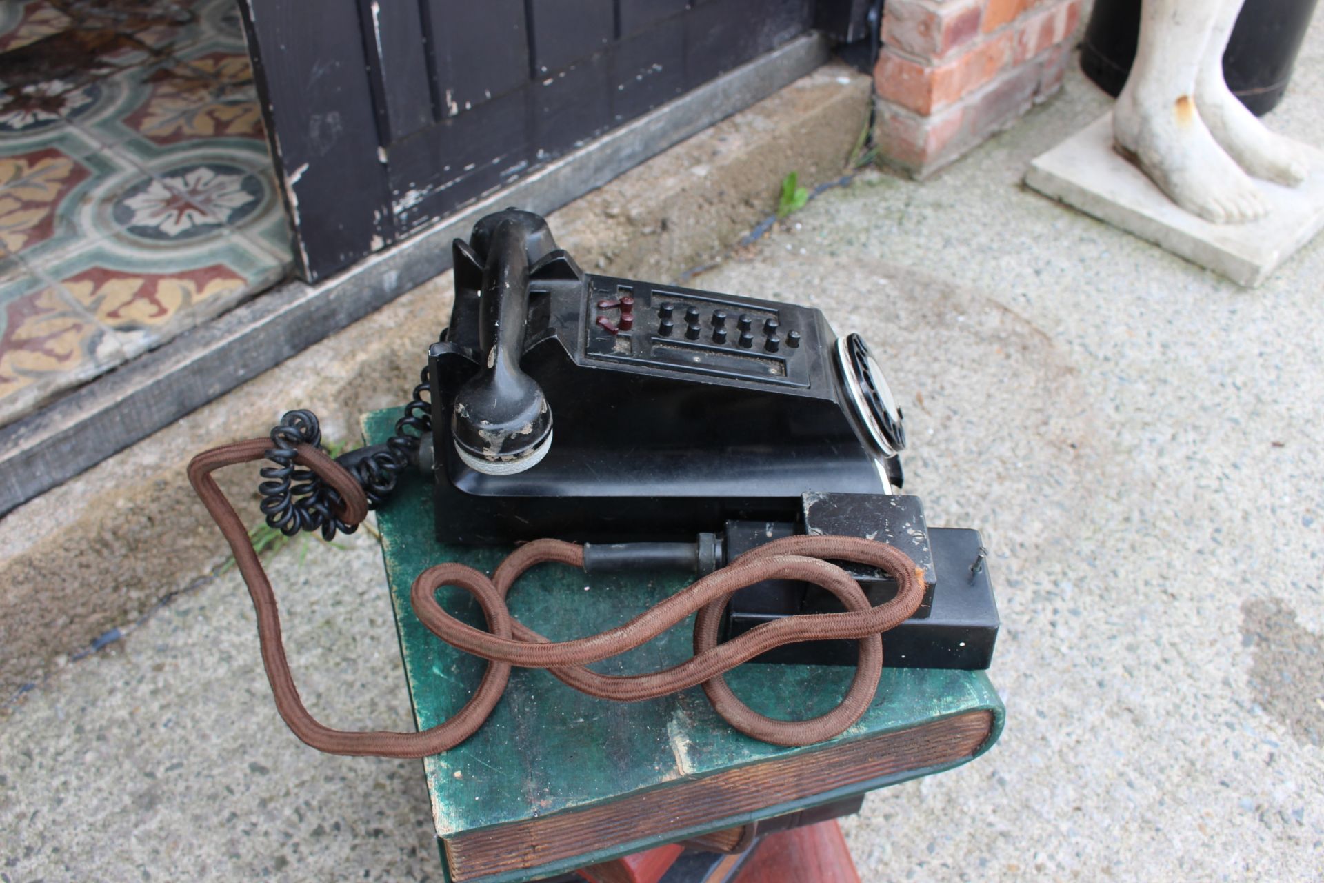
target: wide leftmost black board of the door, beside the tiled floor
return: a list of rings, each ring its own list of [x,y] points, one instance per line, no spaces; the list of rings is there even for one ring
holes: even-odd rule
[[[322,279],[395,240],[354,0],[242,0],[295,259]]]

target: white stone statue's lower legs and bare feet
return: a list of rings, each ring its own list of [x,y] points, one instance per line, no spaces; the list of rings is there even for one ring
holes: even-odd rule
[[[1268,131],[1223,81],[1223,50],[1243,0],[1144,0],[1140,44],[1112,132],[1174,203],[1215,224],[1268,213],[1250,175],[1296,187],[1308,160]]]

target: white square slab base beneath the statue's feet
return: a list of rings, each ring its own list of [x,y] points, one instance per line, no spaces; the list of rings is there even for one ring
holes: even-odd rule
[[[1296,188],[1256,179],[1270,212],[1250,224],[1210,224],[1178,208],[1113,148],[1111,113],[1037,158],[1025,183],[1254,287],[1324,228],[1324,152],[1300,147],[1309,156],[1309,177]]]

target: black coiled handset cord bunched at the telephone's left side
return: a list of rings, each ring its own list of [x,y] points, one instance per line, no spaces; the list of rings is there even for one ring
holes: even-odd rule
[[[396,490],[396,482],[406,467],[418,462],[422,437],[432,432],[432,389],[428,367],[418,376],[413,397],[405,405],[404,416],[396,421],[395,434],[384,445],[359,447],[336,457],[350,474],[363,486],[368,508],[377,508]],[[322,428],[311,410],[290,410],[271,428],[271,445],[266,458],[274,466],[261,470],[263,481],[257,487],[262,496],[266,523],[286,536],[299,531],[322,531],[322,539],[331,540],[336,532],[354,534],[357,526],[346,524],[335,514],[340,510],[340,495],[315,474],[295,469],[294,453],[299,443],[322,446]]]

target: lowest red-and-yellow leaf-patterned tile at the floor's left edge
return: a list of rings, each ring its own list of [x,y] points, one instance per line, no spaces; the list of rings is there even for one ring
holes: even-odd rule
[[[58,287],[24,285],[30,290],[0,304],[0,424],[123,360],[119,343]]]

